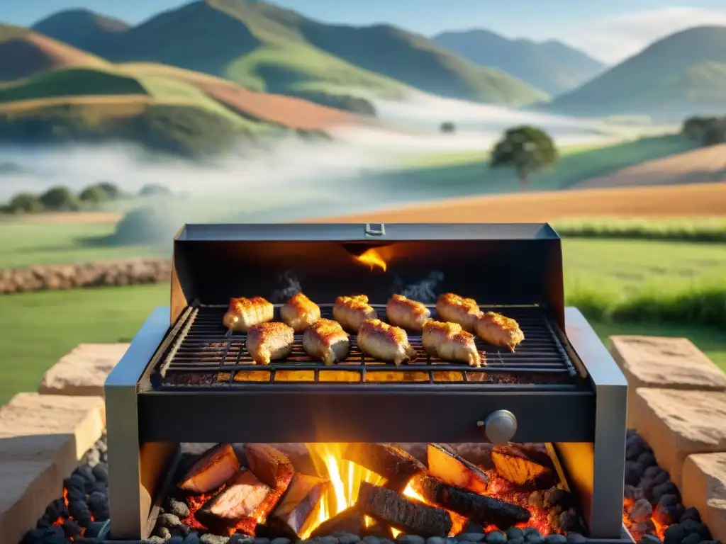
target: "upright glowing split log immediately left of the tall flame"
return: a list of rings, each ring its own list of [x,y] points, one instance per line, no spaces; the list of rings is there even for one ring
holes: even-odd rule
[[[301,538],[315,522],[317,507],[328,487],[328,480],[296,473],[287,493],[269,516],[269,529],[293,540]]]

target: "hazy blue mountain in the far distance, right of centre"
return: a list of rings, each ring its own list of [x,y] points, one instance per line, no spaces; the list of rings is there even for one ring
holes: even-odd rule
[[[559,41],[510,40],[489,30],[444,32],[440,46],[484,67],[496,67],[535,88],[556,95],[594,78],[605,65]]]

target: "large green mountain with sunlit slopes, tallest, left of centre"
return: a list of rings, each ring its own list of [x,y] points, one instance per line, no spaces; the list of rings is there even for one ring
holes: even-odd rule
[[[498,104],[547,98],[423,36],[387,25],[324,25],[262,1],[196,1],[137,27],[103,33],[83,48],[114,62],[161,62],[295,96],[363,88],[394,97],[415,87]]]

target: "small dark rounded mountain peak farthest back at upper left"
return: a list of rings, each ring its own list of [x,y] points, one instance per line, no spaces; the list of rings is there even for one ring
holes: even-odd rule
[[[123,32],[131,25],[88,9],[68,9],[36,22],[32,28],[66,44],[83,48],[89,41]]]

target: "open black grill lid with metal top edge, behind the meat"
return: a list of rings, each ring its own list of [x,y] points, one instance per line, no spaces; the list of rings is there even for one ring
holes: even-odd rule
[[[547,223],[189,224],[174,239],[172,322],[192,303],[279,303],[298,291],[314,301],[364,293],[374,304],[455,292],[541,305],[565,326],[561,241]]]

